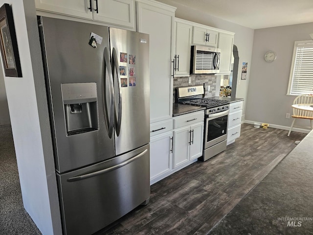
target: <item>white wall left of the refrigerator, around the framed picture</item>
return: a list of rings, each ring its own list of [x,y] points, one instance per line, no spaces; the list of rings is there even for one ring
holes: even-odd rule
[[[62,234],[45,79],[34,0],[11,4],[22,77],[5,77],[22,199],[44,235]]]

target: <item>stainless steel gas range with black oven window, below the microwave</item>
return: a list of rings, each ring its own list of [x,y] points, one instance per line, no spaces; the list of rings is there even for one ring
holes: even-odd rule
[[[200,161],[206,161],[226,149],[227,120],[229,114],[228,101],[203,98],[203,95],[203,86],[177,88],[177,100],[179,103],[206,107],[203,154],[198,159]]]

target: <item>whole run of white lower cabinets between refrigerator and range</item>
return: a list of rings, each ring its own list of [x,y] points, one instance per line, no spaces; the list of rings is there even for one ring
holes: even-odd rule
[[[171,122],[171,124],[170,124]],[[172,127],[176,128],[172,131]],[[204,111],[150,126],[150,185],[202,156]]]

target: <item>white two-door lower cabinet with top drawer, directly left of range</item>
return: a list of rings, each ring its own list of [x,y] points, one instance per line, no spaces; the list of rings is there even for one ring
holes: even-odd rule
[[[174,118],[174,164],[177,168],[202,156],[204,111]]]

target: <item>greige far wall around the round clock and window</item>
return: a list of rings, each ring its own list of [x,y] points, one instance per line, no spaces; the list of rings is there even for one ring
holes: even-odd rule
[[[312,40],[309,33],[313,33],[313,23],[255,30],[246,120],[267,122],[282,129],[290,127],[292,118],[285,117],[286,113],[292,114],[295,96],[286,94],[294,41]],[[264,60],[269,50],[277,53],[271,63]],[[305,120],[303,124],[309,126],[310,122]]]

